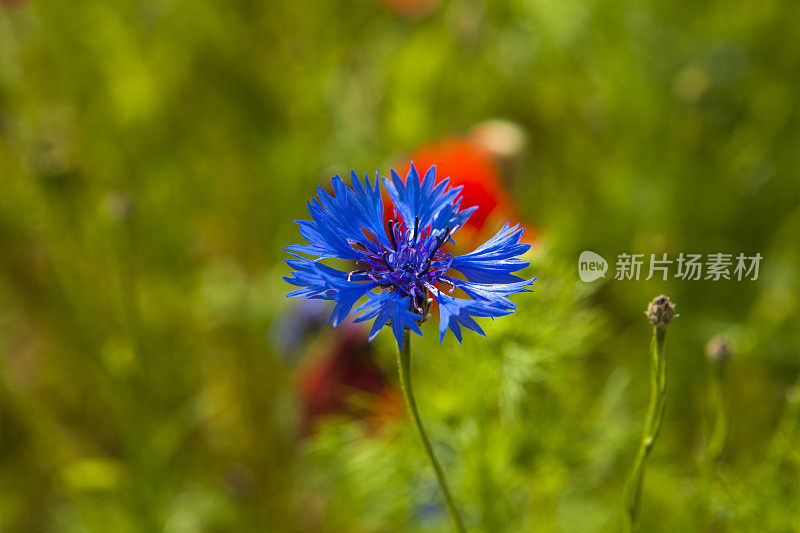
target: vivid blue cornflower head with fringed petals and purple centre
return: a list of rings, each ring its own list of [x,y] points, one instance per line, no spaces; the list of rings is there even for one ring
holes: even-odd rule
[[[530,248],[520,243],[522,228],[506,223],[473,252],[454,256],[445,244],[454,242],[477,209],[461,209],[461,187],[451,188],[449,179],[436,183],[436,167],[420,179],[413,164],[405,182],[394,171],[383,181],[394,204],[386,225],[377,174],[370,183],[352,172],[351,187],[334,176],[333,196],[320,187],[318,199],[308,202],[311,220],[297,221],[308,244],[285,248],[294,258],[287,261],[293,272],[283,279],[299,287],[288,297],[333,300],[334,326],[366,297],[354,311],[361,313],[356,322],[375,319],[370,340],[388,322],[398,346],[404,329],[422,335],[419,324],[433,301],[439,306],[439,342],[448,327],[461,342],[461,326],[484,334],[475,317],[514,312],[508,296],[530,292],[534,281],[513,274],[529,264],[518,258]],[[342,272],[320,262],[326,258],[351,260],[356,268]],[[451,296],[456,288],[468,298]]]

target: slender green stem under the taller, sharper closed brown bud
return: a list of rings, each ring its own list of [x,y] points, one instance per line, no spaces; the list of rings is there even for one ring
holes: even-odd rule
[[[642,502],[642,485],[644,470],[650,451],[653,449],[661,420],[664,418],[664,405],[667,393],[666,360],[664,357],[664,338],[666,329],[663,326],[653,328],[653,339],[650,342],[650,405],[644,423],[642,441],[636,454],[636,461],[625,484],[625,516],[624,530],[635,531],[639,526],[639,510]]]

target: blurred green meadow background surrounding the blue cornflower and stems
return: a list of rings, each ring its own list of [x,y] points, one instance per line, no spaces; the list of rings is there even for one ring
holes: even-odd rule
[[[643,530],[800,530],[799,11],[1,1],[0,530],[446,531],[402,415],[299,433],[297,369],[334,333],[279,353],[281,246],[333,173],[494,118],[527,137],[504,179],[537,292],[486,339],[414,341],[470,529],[619,530],[664,292],[681,317]],[[585,249],[764,259],[757,281],[584,284]],[[709,472],[719,333],[731,429]]]

